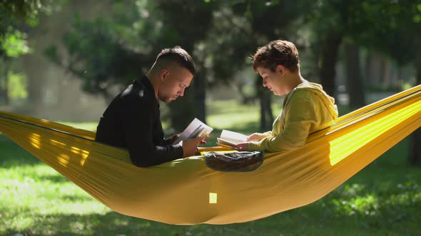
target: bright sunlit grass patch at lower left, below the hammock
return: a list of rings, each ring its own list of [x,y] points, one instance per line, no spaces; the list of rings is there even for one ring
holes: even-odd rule
[[[44,163],[0,168],[0,179],[0,235],[8,229],[19,232],[36,227],[47,215],[110,211]]]

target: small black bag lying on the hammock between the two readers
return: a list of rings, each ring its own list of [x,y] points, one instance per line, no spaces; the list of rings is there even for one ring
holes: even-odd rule
[[[206,165],[215,171],[254,171],[263,163],[263,152],[235,151],[205,153]]]

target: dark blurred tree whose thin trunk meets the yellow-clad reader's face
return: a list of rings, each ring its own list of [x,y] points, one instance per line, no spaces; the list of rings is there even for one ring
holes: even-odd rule
[[[215,13],[218,23],[214,23],[206,44],[211,55],[213,76],[225,78],[219,81],[227,82],[233,73],[250,67],[249,57],[259,46],[279,38],[294,41],[298,38],[295,27],[307,9],[305,4],[295,1],[234,1],[221,4]],[[256,75],[252,79],[260,100],[260,129],[267,130],[273,123],[270,92],[263,90],[260,77]]]

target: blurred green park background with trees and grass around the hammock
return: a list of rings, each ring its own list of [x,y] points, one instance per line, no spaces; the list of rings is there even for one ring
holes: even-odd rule
[[[0,110],[94,131],[112,98],[180,45],[198,74],[161,104],[165,133],[197,117],[215,129],[213,146],[222,129],[271,129],[283,97],[262,87],[250,56],[279,38],[297,45],[303,77],[340,115],[421,84],[421,1],[6,0]],[[0,235],[420,235],[420,144],[418,129],[303,208],[174,226],[114,213],[0,134]]]

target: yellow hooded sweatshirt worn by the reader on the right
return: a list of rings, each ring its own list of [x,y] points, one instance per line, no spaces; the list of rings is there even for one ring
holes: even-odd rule
[[[303,146],[308,135],[329,127],[338,118],[335,99],[322,85],[303,82],[285,96],[283,111],[273,122],[271,132],[259,134],[251,141],[250,151],[281,152]]]

